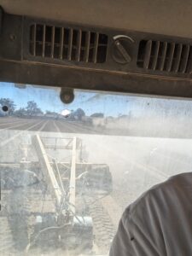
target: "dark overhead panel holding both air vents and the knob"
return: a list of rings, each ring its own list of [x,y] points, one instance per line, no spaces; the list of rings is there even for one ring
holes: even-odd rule
[[[3,81],[192,96],[190,38],[2,12],[0,40]]]

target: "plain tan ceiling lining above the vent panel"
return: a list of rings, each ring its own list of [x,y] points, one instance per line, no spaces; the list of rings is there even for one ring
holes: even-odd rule
[[[192,38],[190,0],[0,0],[5,12]]]

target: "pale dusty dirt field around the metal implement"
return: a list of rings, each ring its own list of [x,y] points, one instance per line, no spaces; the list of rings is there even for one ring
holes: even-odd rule
[[[91,206],[96,254],[108,253],[122,212],[143,191],[172,175],[192,170],[191,139],[108,136],[103,135],[102,130],[97,135],[96,131],[89,128],[88,132],[82,125],[41,119],[2,119],[0,129],[0,163],[37,160],[28,145],[32,143],[32,135],[39,134],[42,137],[79,137],[83,142],[84,161],[109,166],[113,192],[102,199],[98,197],[94,203],[91,198],[86,199]],[[52,149],[48,153],[58,161],[70,157]],[[1,222],[6,223],[4,217]],[[7,230],[10,233],[9,227]]]

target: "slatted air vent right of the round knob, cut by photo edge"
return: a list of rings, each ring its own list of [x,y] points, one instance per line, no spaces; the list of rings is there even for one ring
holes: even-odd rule
[[[139,45],[137,67],[172,73],[191,73],[192,46],[143,40]]]

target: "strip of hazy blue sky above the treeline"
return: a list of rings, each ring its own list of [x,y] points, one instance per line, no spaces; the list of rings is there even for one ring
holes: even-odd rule
[[[136,117],[167,114],[183,116],[186,113],[192,116],[192,101],[189,100],[75,90],[74,101],[64,104],[60,99],[60,90],[29,84],[18,88],[17,84],[0,83],[0,98],[10,98],[15,102],[17,109],[26,108],[27,102],[34,101],[44,113],[46,110],[61,113],[65,109],[75,111],[82,108],[87,116],[92,113],[104,113],[106,117],[119,117],[130,113]]]

